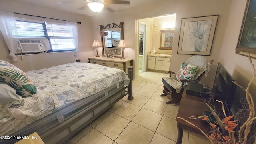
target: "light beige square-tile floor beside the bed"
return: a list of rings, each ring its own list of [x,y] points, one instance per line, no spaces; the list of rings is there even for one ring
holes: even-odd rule
[[[176,144],[179,105],[165,104],[164,73],[143,72],[133,81],[133,100],[125,96],[68,144]],[[182,144],[209,144],[203,136],[184,131]]]

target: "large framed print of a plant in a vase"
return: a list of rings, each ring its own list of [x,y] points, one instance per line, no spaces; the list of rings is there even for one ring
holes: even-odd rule
[[[218,16],[182,18],[178,54],[209,56]]]

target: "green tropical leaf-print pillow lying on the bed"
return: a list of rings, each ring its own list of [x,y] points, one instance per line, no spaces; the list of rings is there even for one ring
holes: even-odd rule
[[[32,80],[22,70],[4,60],[0,60],[0,81],[12,86],[23,97],[36,95],[36,86]]]

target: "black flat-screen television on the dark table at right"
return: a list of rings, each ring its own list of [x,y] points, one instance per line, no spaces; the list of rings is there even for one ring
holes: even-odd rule
[[[226,106],[231,106],[236,92],[236,84],[232,81],[235,80],[219,62],[212,93],[214,94],[214,99],[221,100]]]

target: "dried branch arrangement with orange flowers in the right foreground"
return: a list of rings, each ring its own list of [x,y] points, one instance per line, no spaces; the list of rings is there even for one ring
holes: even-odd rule
[[[198,128],[206,136],[206,138],[208,138],[208,140],[212,142],[212,144],[256,144],[256,132],[255,132],[255,128],[252,127],[252,126],[255,126],[254,121],[256,120],[255,108],[254,108],[254,101],[253,101],[252,95],[249,92],[249,88],[252,84],[252,81],[256,76],[256,73],[255,73],[256,70],[254,68],[254,65],[252,64],[250,55],[248,56],[248,59],[250,61],[250,64],[252,65],[253,76],[250,82],[248,83],[247,88],[245,89],[239,84],[237,84],[236,82],[234,82],[237,86],[239,86],[240,88],[242,88],[242,90],[245,91],[246,101],[248,105],[248,116],[247,116],[248,118],[246,122],[244,122],[244,124],[240,124],[242,126],[240,126],[238,130],[238,137],[236,137],[234,134],[235,133],[234,129],[238,126],[238,121],[237,120],[230,121],[230,119],[233,118],[233,116],[228,116],[228,117],[226,116],[224,104],[218,100],[216,101],[222,103],[222,111],[225,116],[224,119],[221,120],[219,116],[216,114],[216,112],[214,111],[214,109],[211,106],[209,106],[207,103],[206,104],[210,108],[210,111],[212,112],[214,118],[216,119],[216,122],[212,122],[211,120],[209,120],[208,116],[206,115],[190,117],[191,119],[201,118],[202,120],[208,122],[212,129],[211,131],[212,133],[210,135],[207,135],[204,131],[202,131],[196,125],[185,120],[184,118],[180,118],[180,117],[177,117],[177,118],[182,119],[187,123],[191,124],[192,126],[195,126],[196,128]]]

